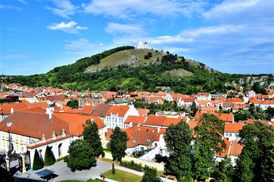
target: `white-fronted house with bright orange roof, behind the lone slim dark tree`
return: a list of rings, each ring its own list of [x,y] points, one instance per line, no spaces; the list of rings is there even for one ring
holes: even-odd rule
[[[128,116],[139,116],[139,112],[134,105],[112,105],[105,114],[105,125],[112,129],[115,129],[115,127],[123,129]]]

